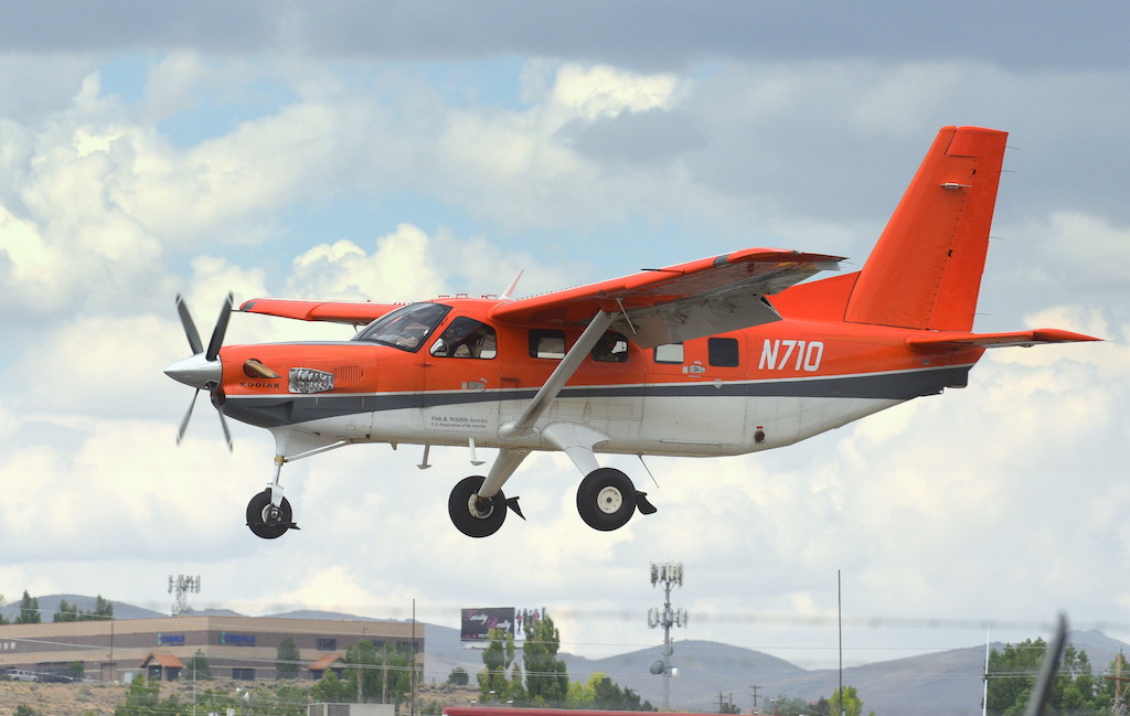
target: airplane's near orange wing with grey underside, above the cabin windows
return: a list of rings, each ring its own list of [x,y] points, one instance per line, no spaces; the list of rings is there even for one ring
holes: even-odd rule
[[[766,300],[840,256],[747,248],[666,269],[501,304],[493,317],[523,325],[583,325],[599,312],[643,348],[780,321]]]

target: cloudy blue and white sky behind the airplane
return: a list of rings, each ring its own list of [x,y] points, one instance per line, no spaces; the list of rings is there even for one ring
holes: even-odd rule
[[[0,2],[0,593],[459,626],[545,608],[562,648],[677,638],[803,666],[1075,628],[1130,640],[1130,6],[1106,2]],[[285,466],[162,370],[224,296],[533,295],[750,246],[866,260],[939,128],[1006,130],[963,391],[798,445],[610,457],[659,512],[598,533],[566,459],[528,522],[450,524],[467,451]],[[228,343],[340,338],[236,314]],[[50,369],[49,369],[50,368]],[[489,457],[489,456],[488,456]],[[649,471],[650,470],[650,475]],[[838,587],[838,588],[837,588]],[[837,600],[837,592],[841,595]],[[991,625],[991,626],[990,626]],[[676,662],[678,656],[676,655]]]

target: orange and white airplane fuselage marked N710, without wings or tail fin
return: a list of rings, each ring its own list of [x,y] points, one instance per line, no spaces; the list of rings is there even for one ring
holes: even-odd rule
[[[437,299],[414,304],[432,307],[423,313],[434,325],[423,329],[401,321],[380,335],[363,330],[350,341],[226,347],[220,409],[250,425],[327,442],[473,440],[551,449],[537,429],[507,438],[499,429],[522,413],[581,329],[496,323],[490,314],[498,304]],[[471,348],[454,347],[459,329],[469,326]],[[605,453],[748,453],[964,386],[983,352],[915,351],[906,347],[906,334],[782,320],[642,349],[614,333],[584,360],[539,427],[584,425],[607,436],[594,447]],[[278,377],[247,369],[250,360]]]

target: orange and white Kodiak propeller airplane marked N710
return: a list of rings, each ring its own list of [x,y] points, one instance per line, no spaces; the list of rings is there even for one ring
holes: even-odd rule
[[[612,531],[657,510],[607,454],[710,457],[792,445],[945,388],[988,348],[1099,340],[1058,329],[973,332],[1007,133],[942,128],[859,271],[841,256],[745,248],[579,288],[411,304],[254,298],[238,312],[359,328],[351,340],[208,346],[182,297],[192,356],[165,373],[225,416],[269,430],[273,473],[246,524],[294,523],[282,465],[360,443],[497,449],[447,509],[472,538],[513,512],[507,483],[533,451],[583,475],[581,518]],[[802,282],[803,281],[803,282]],[[515,281],[516,283],[516,281]],[[184,416],[184,435],[192,405]]]

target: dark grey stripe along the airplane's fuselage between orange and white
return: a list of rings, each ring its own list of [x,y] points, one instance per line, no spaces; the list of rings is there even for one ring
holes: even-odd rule
[[[592,385],[564,388],[558,398],[861,398],[911,400],[936,395],[946,387],[965,386],[973,366],[948,366],[897,373],[806,379]],[[411,408],[437,408],[513,400],[531,400],[533,388],[481,392],[426,392],[229,398],[224,413],[241,422],[275,428],[325,418]]]

